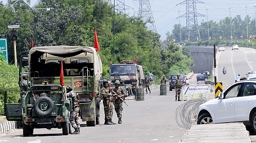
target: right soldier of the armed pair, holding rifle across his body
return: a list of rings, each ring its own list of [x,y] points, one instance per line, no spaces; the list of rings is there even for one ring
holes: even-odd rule
[[[124,89],[119,86],[120,81],[116,80],[115,88],[113,89],[113,93],[116,93],[116,100],[115,100],[115,111],[118,117],[118,124],[122,124],[122,111],[123,111],[123,101],[120,98],[125,96]]]

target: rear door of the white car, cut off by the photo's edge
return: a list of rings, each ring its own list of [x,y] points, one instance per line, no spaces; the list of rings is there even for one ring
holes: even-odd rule
[[[243,83],[240,97],[235,100],[235,122],[249,121],[249,114],[254,107],[256,83]]]

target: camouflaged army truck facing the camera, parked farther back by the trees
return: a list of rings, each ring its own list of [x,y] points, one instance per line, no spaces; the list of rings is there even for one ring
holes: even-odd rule
[[[141,65],[135,64],[132,60],[123,60],[119,64],[110,65],[110,79],[112,83],[120,80],[120,86],[126,88],[127,96],[137,96],[138,89],[144,88],[144,73]]]

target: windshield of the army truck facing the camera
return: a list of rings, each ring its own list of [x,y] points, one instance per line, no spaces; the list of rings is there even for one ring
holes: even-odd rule
[[[117,64],[111,65],[111,75],[135,75],[136,74],[135,64]]]

